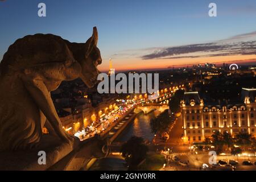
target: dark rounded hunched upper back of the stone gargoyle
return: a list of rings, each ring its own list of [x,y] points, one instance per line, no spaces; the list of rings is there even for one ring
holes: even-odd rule
[[[1,61],[1,70],[7,72],[10,67],[22,69],[46,62],[65,61],[69,54],[67,43],[60,36],[26,35],[8,48]]]

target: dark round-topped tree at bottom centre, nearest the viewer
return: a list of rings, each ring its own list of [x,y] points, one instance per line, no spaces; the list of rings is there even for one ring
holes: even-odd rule
[[[137,169],[139,163],[146,158],[148,147],[144,144],[144,139],[133,136],[121,146],[121,153],[128,163],[129,170]]]

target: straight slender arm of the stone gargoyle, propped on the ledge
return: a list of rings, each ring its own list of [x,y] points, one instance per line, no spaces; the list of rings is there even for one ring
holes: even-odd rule
[[[69,142],[68,134],[65,133],[60,119],[53,105],[49,91],[40,77],[31,78],[27,75],[21,76],[31,97],[34,99],[39,109],[42,110],[49,123],[51,123],[56,134],[66,142]]]

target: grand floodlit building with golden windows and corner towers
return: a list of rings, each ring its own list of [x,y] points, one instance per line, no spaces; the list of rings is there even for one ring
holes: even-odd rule
[[[185,92],[181,101],[184,143],[203,142],[215,131],[255,135],[256,89],[242,88],[242,101],[205,104],[198,92]]]

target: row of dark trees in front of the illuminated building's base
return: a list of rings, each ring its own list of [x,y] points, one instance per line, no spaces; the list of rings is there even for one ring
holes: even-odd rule
[[[216,131],[211,137],[205,138],[205,144],[213,145],[217,154],[229,150],[231,154],[236,155],[240,154],[242,150],[254,150],[256,140],[249,133],[238,133],[232,137],[228,131],[223,133]]]

